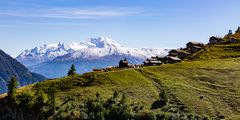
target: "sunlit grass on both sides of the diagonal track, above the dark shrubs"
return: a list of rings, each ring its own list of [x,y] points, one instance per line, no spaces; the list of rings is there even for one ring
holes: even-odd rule
[[[77,100],[93,98],[99,92],[108,98],[114,91],[149,109],[165,91],[169,104],[181,106],[201,116],[240,119],[240,59],[214,59],[144,67],[107,73],[78,75],[41,82],[47,89],[54,83],[57,106],[70,96]],[[32,86],[20,89],[33,94]],[[32,89],[29,91],[29,89]],[[159,108],[152,109],[159,111]]]

